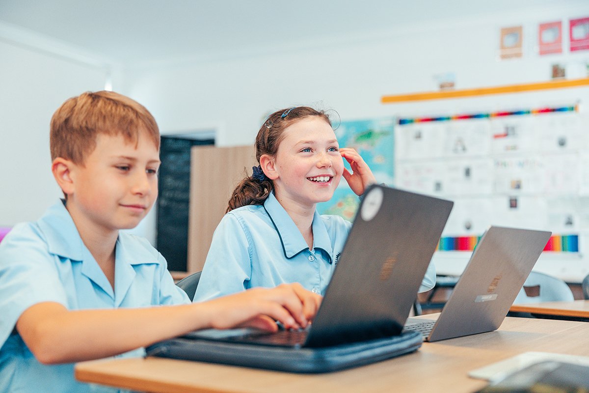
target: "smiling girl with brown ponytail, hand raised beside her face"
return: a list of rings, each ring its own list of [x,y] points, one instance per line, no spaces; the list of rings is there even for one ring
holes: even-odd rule
[[[352,224],[320,216],[316,204],[331,199],[342,176],[358,196],[376,182],[356,150],[339,147],[325,112],[313,108],[274,112],[255,147],[260,165],[233,191],[194,301],[292,282],[325,293]],[[432,265],[420,292],[434,284]]]

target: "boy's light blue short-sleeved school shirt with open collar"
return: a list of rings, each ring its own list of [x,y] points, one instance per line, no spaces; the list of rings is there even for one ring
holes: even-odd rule
[[[120,233],[115,288],[85,247],[62,202],[0,243],[0,392],[109,391],[74,379],[74,364],[42,365],[13,329],[27,308],[57,302],[68,310],[188,303],[167,263],[145,239]],[[127,326],[141,329],[141,326]],[[141,356],[138,349],[119,356]]]

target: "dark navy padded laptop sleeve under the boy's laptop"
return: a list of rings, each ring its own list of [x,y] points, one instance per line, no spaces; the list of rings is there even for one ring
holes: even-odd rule
[[[322,348],[234,344],[184,336],[151,345],[147,348],[147,356],[287,372],[320,373],[408,354],[416,351],[422,342],[419,332],[403,332],[398,336]]]

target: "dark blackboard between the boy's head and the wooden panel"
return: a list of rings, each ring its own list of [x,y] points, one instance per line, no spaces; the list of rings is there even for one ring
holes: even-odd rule
[[[169,270],[187,270],[190,148],[213,144],[213,139],[161,137],[156,247],[166,258]]]

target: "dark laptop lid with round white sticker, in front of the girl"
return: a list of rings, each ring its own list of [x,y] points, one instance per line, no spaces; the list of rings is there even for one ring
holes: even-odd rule
[[[372,186],[305,346],[400,333],[454,203]]]

